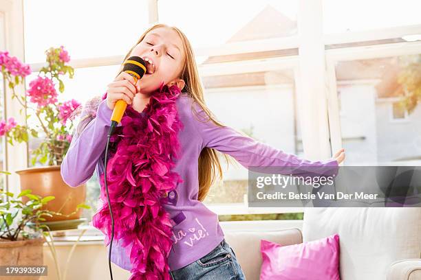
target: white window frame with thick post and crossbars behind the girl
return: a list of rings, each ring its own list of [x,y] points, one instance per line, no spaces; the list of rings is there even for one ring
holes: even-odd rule
[[[19,1],[22,2],[22,0]],[[149,23],[158,22],[158,0],[148,0],[148,4]],[[299,110],[302,114],[300,117],[300,126],[301,128],[305,128],[302,131],[302,137],[305,157],[307,159],[324,159],[330,157],[332,151],[342,148],[341,124],[338,113],[337,86],[334,71],[335,62],[339,60],[353,60],[356,58],[374,58],[380,54],[382,56],[402,55],[402,49],[404,49],[405,53],[415,53],[415,49],[418,48],[416,53],[419,53],[421,45],[420,42],[413,42],[325,50],[325,45],[381,40],[398,38],[411,34],[421,34],[421,25],[391,27],[364,32],[323,34],[322,11],[322,0],[299,1],[297,15],[299,33],[296,36],[228,43],[194,50],[196,56],[220,56],[246,54],[254,51],[298,48],[300,53],[299,56],[273,58],[265,60],[265,62],[259,60],[248,61],[248,65],[252,65],[252,68],[246,69],[246,71],[271,69],[271,67],[277,70],[282,67],[294,70],[297,102],[302,106],[302,110]],[[70,65],[76,69],[120,65],[123,58],[123,56],[87,58],[72,60]],[[31,67],[33,71],[39,71],[42,65],[43,63],[34,63]],[[204,77],[239,73],[239,69],[241,69],[241,62],[229,62],[201,65],[199,67],[199,73]],[[241,72],[244,73],[244,69],[241,69]],[[316,75],[314,73],[316,73]],[[317,141],[314,139],[317,139]],[[216,206],[217,205],[215,205],[215,207]],[[214,208],[215,213],[246,213],[246,211],[248,213],[248,211],[251,211],[250,209],[246,210],[244,205],[233,204],[231,206],[230,209],[232,209],[232,211]],[[209,207],[211,208],[212,205],[209,205]],[[292,209],[285,209],[283,207],[269,208],[270,209],[264,210],[256,209],[256,211],[257,213],[292,213]],[[300,211],[302,210],[303,209],[300,209]]]

